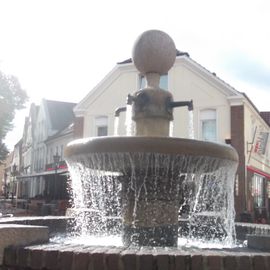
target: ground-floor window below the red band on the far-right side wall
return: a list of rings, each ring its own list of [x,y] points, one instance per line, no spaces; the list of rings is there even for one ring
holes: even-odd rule
[[[252,178],[252,196],[254,207],[265,207],[265,183],[264,177],[254,174]]]

